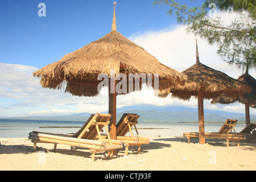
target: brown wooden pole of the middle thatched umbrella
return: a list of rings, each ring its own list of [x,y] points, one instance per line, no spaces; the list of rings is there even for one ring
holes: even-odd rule
[[[199,144],[205,144],[204,134],[204,95],[201,88],[197,96],[198,100],[198,118],[199,118]]]

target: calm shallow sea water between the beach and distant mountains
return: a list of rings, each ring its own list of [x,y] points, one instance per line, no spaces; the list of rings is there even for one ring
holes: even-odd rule
[[[39,128],[42,126],[56,127],[81,127],[84,122],[76,121],[34,121],[34,120],[5,120],[0,119],[0,138],[27,138],[32,131],[42,131],[47,133],[68,134],[76,133],[79,128]],[[218,132],[221,124],[205,124],[205,132]],[[237,132],[240,132],[245,125],[237,125]],[[187,132],[198,132],[199,126],[196,123],[143,123],[137,124],[141,137],[156,136],[182,136]],[[154,129],[148,129],[154,128]],[[164,128],[164,129],[163,129]],[[135,130],[134,130],[134,134]]]

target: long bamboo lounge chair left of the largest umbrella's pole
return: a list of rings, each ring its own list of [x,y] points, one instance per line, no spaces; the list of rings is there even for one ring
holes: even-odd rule
[[[52,134],[33,131],[29,135],[29,139],[34,143],[34,149],[36,149],[36,143],[54,143],[54,150],[56,151],[57,144],[67,144],[73,146],[89,148],[89,152],[92,153],[92,161],[94,162],[95,153],[108,151],[110,158],[113,158],[113,151],[118,148],[123,148],[123,142],[110,139],[108,128],[110,114],[92,114],[85,124],[81,127],[77,133],[70,134]],[[107,139],[102,140],[100,131],[105,127]],[[96,137],[99,136],[99,140]]]

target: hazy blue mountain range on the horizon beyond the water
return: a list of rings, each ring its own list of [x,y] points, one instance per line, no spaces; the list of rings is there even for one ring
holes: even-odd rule
[[[105,111],[104,113],[108,113]],[[140,122],[198,122],[197,108],[181,106],[123,106],[117,109],[117,121],[123,113],[135,113],[140,115]],[[17,117],[5,119],[31,119],[47,121],[86,121],[91,113],[79,113],[71,115],[57,115],[51,117]],[[221,110],[204,110],[205,123],[223,123],[227,118],[238,119],[240,123],[245,123],[245,114],[232,113]],[[0,118],[3,119],[3,118]],[[251,122],[256,122],[256,115],[250,115]]]

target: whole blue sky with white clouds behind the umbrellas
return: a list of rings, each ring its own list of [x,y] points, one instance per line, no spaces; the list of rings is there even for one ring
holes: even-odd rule
[[[96,113],[108,110],[108,92],[77,97],[64,90],[42,88],[32,72],[58,61],[67,53],[100,39],[111,31],[113,0],[2,0],[0,4],[0,117]],[[225,63],[217,48],[188,34],[186,26],[167,14],[167,5],[154,0],[117,0],[117,31],[143,47],[163,64],[179,72],[196,61],[199,42],[201,63],[238,78],[243,71]],[[203,1],[182,1],[189,6]],[[39,6],[44,3],[45,10]],[[46,16],[39,16],[45,12]],[[220,13],[230,21],[233,15]],[[255,70],[249,72],[256,77]],[[117,107],[132,105],[197,107],[197,100],[158,98],[150,89],[117,97]],[[205,109],[245,113],[242,104],[212,105]],[[256,114],[256,109],[250,109]]]

